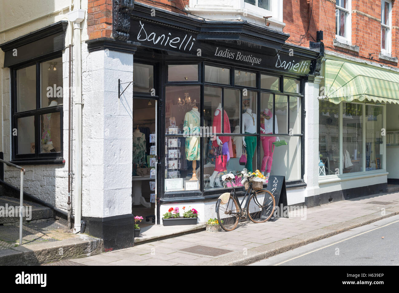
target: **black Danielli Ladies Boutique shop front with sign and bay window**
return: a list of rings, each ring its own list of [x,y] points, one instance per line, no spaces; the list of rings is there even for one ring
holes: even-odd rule
[[[171,207],[190,207],[204,222],[229,190],[222,175],[244,168],[285,176],[292,204],[304,202],[305,83],[318,50],[243,21],[163,10],[151,16],[151,7],[138,3],[129,35],[140,43],[133,64],[134,215],[162,224]]]

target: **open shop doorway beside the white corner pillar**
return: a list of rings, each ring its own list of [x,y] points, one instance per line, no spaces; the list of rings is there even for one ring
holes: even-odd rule
[[[133,98],[132,213],[143,217],[141,232],[156,224],[157,102]]]

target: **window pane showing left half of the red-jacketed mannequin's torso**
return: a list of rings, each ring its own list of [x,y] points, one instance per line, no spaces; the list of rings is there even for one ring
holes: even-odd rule
[[[211,86],[204,87],[204,126],[215,127],[212,133],[221,132],[221,107],[222,107],[222,89]],[[224,117],[226,119],[226,117]]]

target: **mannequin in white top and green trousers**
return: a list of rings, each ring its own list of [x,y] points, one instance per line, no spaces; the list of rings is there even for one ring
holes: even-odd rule
[[[252,109],[247,108],[245,113],[243,113],[243,133],[256,133],[256,121],[256,114],[252,113]],[[256,137],[243,137],[243,146],[247,150],[247,164],[245,164],[245,168],[248,169],[248,172],[253,172],[252,160],[256,150]]]

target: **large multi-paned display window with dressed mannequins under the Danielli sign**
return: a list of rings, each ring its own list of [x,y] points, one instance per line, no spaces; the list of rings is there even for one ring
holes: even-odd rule
[[[221,177],[244,169],[302,179],[298,80],[203,64],[204,81],[195,76],[185,84],[180,66],[167,68],[174,82],[168,78],[165,87],[165,191],[225,189]],[[280,80],[290,87],[280,91]]]

